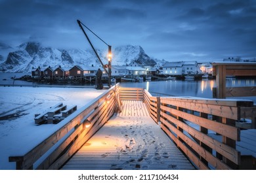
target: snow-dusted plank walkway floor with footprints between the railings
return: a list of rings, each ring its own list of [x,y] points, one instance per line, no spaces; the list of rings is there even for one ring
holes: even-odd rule
[[[142,101],[123,101],[114,115],[62,169],[195,169]]]

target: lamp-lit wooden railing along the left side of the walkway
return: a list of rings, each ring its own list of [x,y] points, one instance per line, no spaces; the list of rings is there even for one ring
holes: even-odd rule
[[[116,90],[118,84],[70,114],[62,121],[65,125],[35,148],[26,154],[17,152],[9,161],[16,162],[16,169],[59,169],[114,114]]]

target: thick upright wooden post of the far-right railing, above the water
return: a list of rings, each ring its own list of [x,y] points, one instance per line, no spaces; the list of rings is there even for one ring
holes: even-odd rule
[[[216,65],[217,99],[226,98],[226,65]]]

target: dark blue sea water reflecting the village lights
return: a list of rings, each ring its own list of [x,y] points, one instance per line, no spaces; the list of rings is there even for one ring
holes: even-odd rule
[[[0,84],[17,84],[33,86],[33,82],[13,80],[30,73],[0,73]],[[146,82],[121,82],[123,87],[145,88],[154,96],[190,96],[190,97],[213,97],[215,80],[160,80]],[[40,86],[40,84],[37,84]],[[85,85],[86,86],[86,85]],[[88,84],[92,86],[92,84]],[[226,87],[256,86],[255,78],[226,78]],[[252,99],[256,103],[256,97],[239,97],[239,99]]]

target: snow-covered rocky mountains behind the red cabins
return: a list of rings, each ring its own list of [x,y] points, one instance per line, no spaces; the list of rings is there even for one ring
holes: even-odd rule
[[[108,63],[107,52],[96,50],[104,64]],[[118,46],[112,50],[112,65],[128,65],[139,61],[143,65],[155,65],[157,59],[150,58],[141,46]],[[72,67],[74,65],[100,66],[93,50],[64,50],[42,46],[39,42],[25,42],[12,48],[0,43],[0,72],[30,73],[32,67]]]

